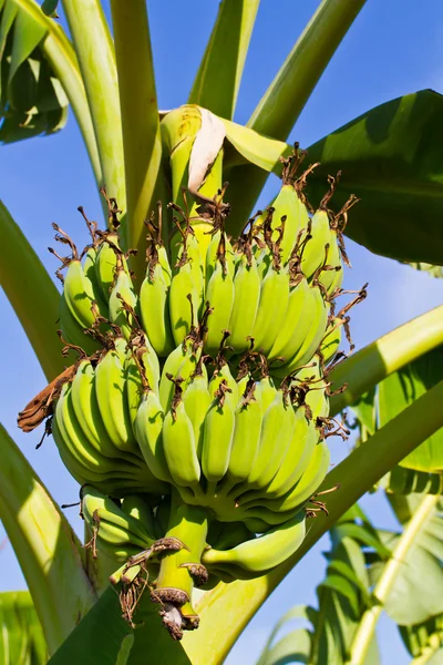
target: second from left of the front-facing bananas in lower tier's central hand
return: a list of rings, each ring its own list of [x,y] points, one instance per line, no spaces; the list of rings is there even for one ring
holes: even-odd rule
[[[194,428],[178,392],[163,423],[163,449],[174,484],[193,487],[200,478]],[[178,401],[179,400],[179,401]]]

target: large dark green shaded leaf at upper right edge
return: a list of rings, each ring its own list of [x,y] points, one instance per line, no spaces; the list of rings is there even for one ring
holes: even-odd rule
[[[352,193],[346,234],[371,252],[403,262],[442,265],[443,96],[432,90],[371,109],[309,147],[321,162],[308,181],[318,204],[328,174],[342,171],[332,200]]]

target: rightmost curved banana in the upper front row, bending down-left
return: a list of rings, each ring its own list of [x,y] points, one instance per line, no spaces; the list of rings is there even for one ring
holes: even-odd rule
[[[310,289],[313,299],[311,300],[309,308],[306,309],[306,316],[310,323],[309,330],[306,334],[300,348],[295,352],[290,360],[280,367],[276,367],[276,365],[271,366],[271,374],[276,377],[286,377],[308,362],[315,355],[324,336],[324,330],[328,326],[328,307],[323,301],[319,286],[312,285]]]

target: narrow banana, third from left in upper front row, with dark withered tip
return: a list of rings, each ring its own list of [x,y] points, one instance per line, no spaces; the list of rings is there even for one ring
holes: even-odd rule
[[[226,237],[222,234],[216,264],[207,283],[205,298],[212,308],[207,319],[205,351],[216,356],[228,329],[234,304],[233,262],[226,258]]]

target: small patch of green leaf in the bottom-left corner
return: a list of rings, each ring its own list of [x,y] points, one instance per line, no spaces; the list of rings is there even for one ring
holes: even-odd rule
[[[28,591],[0,593],[1,665],[44,665],[48,648]]]

